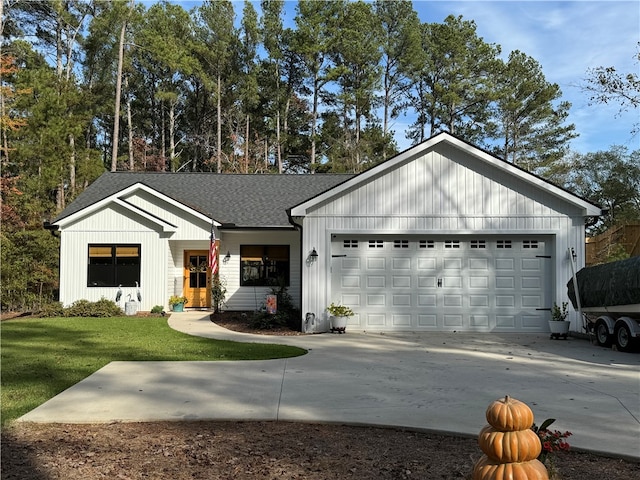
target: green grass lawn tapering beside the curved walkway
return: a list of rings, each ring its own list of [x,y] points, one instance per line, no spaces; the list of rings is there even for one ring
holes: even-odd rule
[[[306,353],[193,337],[162,317],[16,319],[0,329],[3,426],[116,360],[266,360]]]

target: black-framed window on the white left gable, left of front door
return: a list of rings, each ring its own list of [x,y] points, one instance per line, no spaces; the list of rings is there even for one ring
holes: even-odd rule
[[[133,248],[137,249],[135,256],[118,255],[118,249]],[[102,254],[98,255],[97,249],[102,249]],[[108,256],[106,249],[110,250]],[[135,287],[136,282],[137,286],[142,286],[141,265],[142,245],[139,243],[90,243],[87,246],[87,287]]]

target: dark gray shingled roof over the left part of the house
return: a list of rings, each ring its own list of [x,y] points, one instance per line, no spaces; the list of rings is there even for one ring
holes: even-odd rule
[[[107,172],[52,223],[137,183],[238,227],[290,227],[286,210],[348,180],[348,174],[238,175],[218,173]]]

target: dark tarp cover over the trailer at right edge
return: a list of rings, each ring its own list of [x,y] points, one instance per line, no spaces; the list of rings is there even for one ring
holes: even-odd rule
[[[640,257],[585,267],[576,273],[582,307],[610,307],[640,303]],[[567,294],[574,308],[576,293],[573,280]]]

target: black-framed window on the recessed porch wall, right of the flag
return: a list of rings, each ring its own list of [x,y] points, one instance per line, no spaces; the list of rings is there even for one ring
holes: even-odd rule
[[[283,254],[285,251],[286,255]],[[274,287],[281,284],[291,286],[291,245],[240,245],[241,287]]]

